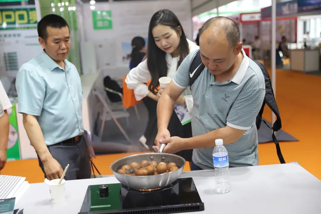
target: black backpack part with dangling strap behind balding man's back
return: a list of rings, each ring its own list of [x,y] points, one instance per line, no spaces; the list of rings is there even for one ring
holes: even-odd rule
[[[265,80],[265,97],[264,97],[264,101],[263,101],[263,105],[259,111],[259,114],[256,117],[256,128],[259,129],[261,126],[261,121],[263,121],[267,127],[269,127],[271,130],[273,130],[272,133],[272,139],[275,143],[275,147],[276,147],[276,153],[278,155],[278,158],[280,160],[280,163],[284,164],[284,158],[281,152],[281,148],[280,148],[280,144],[279,141],[276,139],[274,132],[278,131],[281,129],[282,127],[282,123],[281,123],[281,117],[280,117],[280,112],[279,112],[279,108],[276,104],[276,100],[274,97],[274,92],[273,92],[273,88],[272,88],[272,83],[271,83],[271,79],[270,79],[270,75],[269,73],[266,71],[265,67],[263,66],[262,63],[254,61],[261,69],[263,75],[264,75],[264,80]],[[270,127],[265,120],[262,119],[262,114],[263,114],[263,110],[264,110],[264,106],[265,104],[268,105],[268,107],[271,108],[271,110],[273,111],[273,113],[276,115],[276,121],[274,122],[273,126]]]

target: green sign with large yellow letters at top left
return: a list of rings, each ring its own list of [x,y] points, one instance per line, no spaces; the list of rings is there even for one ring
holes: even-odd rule
[[[0,30],[37,28],[36,8],[0,8]]]

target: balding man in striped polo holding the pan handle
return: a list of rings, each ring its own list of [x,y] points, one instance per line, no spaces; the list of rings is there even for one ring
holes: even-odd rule
[[[258,165],[256,116],[265,96],[260,68],[248,58],[239,41],[239,28],[229,18],[215,17],[200,30],[204,70],[191,86],[194,98],[191,138],[170,136],[167,130],[174,101],[189,86],[189,68],[197,54],[190,53],[179,66],[157,106],[155,150],[193,150],[192,170],[213,168],[216,139],[223,139],[230,167]]]

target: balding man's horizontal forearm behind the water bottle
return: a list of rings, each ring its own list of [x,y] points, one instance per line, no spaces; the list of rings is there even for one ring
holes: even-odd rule
[[[184,149],[214,147],[216,139],[223,139],[224,145],[234,143],[235,141],[239,140],[240,137],[242,137],[244,132],[245,130],[234,129],[226,126],[202,135],[186,138],[184,142]]]

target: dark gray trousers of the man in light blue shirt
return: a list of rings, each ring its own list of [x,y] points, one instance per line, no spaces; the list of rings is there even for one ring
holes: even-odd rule
[[[65,170],[69,164],[68,170],[65,175],[65,180],[86,179],[91,176],[90,158],[87,146],[83,137],[76,143],[61,144],[57,143],[48,146],[48,150],[52,157],[55,158]],[[43,164],[38,156],[39,166],[45,174]]]

